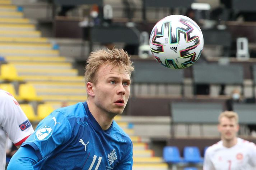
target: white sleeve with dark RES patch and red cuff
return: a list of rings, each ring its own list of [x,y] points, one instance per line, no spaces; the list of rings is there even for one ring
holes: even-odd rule
[[[34,132],[17,100],[8,92],[0,94],[0,126],[15,145],[22,144]]]

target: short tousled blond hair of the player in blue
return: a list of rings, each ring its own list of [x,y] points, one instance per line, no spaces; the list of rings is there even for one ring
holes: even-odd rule
[[[124,69],[129,76],[131,76],[131,72],[134,71],[131,59],[123,49],[101,49],[90,53],[88,57],[84,74],[85,83],[97,83],[96,73],[103,64],[113,65],[113,67],[118,66]]]

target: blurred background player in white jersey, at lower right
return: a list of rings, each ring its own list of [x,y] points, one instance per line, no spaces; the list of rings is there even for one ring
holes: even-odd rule
[[[237,137],[237,113],[221,113],[218,130],[221,141],[206,150],[203,170],[256,170],[256,145]]]

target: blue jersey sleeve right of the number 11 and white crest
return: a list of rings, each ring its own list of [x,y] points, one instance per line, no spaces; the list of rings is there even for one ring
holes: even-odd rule
[[[132,142],[130,146],[127,148],[127,154],[125,158],[115,167],[115,170],[132,170]]]

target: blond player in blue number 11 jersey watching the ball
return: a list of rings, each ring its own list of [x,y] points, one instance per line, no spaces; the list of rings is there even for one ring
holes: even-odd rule
[[[88,100],[57,109],[14,154],[8,170],[132,169],[132,142],[113,121],[126,106],[134,70],[122,49],[98,50],[85,67]]]

